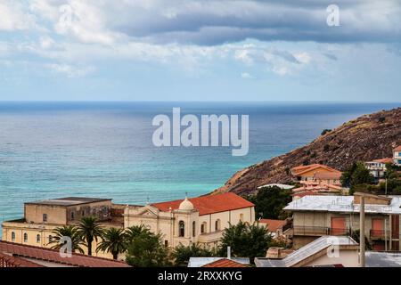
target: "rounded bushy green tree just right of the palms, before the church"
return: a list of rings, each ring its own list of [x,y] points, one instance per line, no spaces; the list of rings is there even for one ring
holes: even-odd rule
[[[135,236],[127,246],[127,264],[137,267],[170,265],[168,248],[162,245],[161,234],[145,231]]]

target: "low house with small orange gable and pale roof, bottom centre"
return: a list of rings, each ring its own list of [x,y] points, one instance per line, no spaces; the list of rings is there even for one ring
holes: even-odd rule
[[[248,257],[191,257],[188,267],[248,267]]]

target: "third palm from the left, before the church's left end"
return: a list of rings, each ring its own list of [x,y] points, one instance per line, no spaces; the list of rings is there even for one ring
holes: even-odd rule
[[[113,259],[117,260],[119,253],[123,253],[127,249],[126,235],[123,229],[110,228],[103,232],[102,241],[99,242],[96,252],[110,252]]]

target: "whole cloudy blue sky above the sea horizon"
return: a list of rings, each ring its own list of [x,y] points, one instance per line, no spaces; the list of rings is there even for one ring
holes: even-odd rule
[[[0,0],[0,100],[400,102],[400,74],[399,0]]]

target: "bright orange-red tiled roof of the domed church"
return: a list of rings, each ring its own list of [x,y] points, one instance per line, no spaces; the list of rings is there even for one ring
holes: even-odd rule
[[[184,199],[177,199],[175,201],[155,203],[151,204],[151,206],[159,208],[160,211],[168,212],[169,208],[173,210],[178,209],[183,200]],[[192,202],[193,208],[199,211],[200,216],[255,206],[250,201],[232,192],[201,196],[189,200]]]

